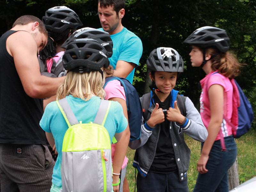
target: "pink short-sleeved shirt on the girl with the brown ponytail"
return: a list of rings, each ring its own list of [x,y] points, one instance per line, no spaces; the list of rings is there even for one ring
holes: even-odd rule
[[[206,129],[208,128],[211,119],[210,101],[206,90],[209,90],[211,85],[219,84],[224,88],[223,114],[229,121],[231,121],[233,112],[233,85],[228,77],[223,76],[220,73],[211,75],[213,72],[215,71],[211,71],[200,81],[202,87],[200,96],[200,115]],[[221,123],[221,130],[223,137],[232,135],[232,127],[225,121],[224,118]],[[220,133],[218,133],[215,140],[220,140]]]

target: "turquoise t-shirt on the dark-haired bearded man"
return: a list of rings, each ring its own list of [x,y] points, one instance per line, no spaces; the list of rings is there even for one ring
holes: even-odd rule
[[[100,30],[103,31],[102,28]],[[142,43],[138,36],[129,31],[127,28],[123,28],[122,31],[114,35],[110,35],[113,41],[113,55],[108,58],[109,63],[116,69],[116,63],[118,60],[123,60],[129,63],[134,63],[139,66],[140,57],[142,55]],[[132,84],[135,69],[126,77]]]

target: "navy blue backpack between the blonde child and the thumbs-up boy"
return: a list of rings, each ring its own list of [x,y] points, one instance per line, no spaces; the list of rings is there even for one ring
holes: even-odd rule
[[[129,128],[130,128],[130,141],[137,140],[140,138],[140,126],[141,126],[141,119],[142,119],[140,97],[136,89],[132,86],[132,84],[124,78],[119,78],[114,76],[107,77],[103,88],[105,88],[108,82],[112,80],[120,81],[121,85],[124,87],[128,122],[129,122]]]

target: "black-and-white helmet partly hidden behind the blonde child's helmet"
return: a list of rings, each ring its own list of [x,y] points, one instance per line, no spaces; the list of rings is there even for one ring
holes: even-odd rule
[[[61,47],[67,48],[70,42],[81,38],[91,38],[97,40],[107,50],[108,57],[112,56],[113,42],[108,32],[89,27],[76,30],[70,37],[68,37],[68,39],[64,42],[64,44],[62,44]]]

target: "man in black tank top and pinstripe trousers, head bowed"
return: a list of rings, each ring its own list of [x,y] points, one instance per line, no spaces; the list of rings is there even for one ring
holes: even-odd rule
[[[1,191],[47,191],[54,162],[39,126],[42,99],[56,94],[64,78],[41,76],[37,52],[47,43],[41,20],[18,18],[0,38]],[[38,98],[38,99],[36,99]]]

